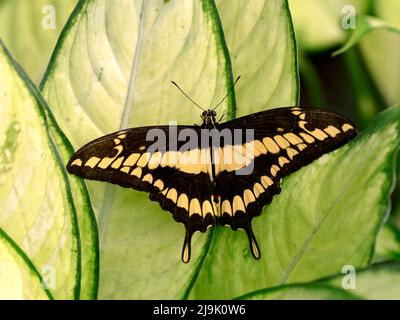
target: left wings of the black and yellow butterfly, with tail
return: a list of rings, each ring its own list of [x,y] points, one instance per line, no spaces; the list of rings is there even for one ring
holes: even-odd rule
[[[185,152],[190,135],[185,130],[198,135],[199,127],[175,128],[175,137],[171,137],[174,134],[169,126],[132,128],[106,135],[78,150],[67,169],[85,179],[148,192],[151,200],[185,225],[182,260],[188,262],[192,234],[215,224],[211,161],[209,148],[199,148],[197,141],[192,141],[190,146],[195,147]],[[154,142],[159,146],[154,147]]]

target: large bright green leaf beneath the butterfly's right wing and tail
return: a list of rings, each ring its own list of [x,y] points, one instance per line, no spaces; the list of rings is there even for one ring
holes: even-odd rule
[[[356,140],[283,180],[254,220],[257,263],[244,232],[219,228],[191,297],[233,298],[366,267],[389,208],[399,119],[400,107],[389,109]]]

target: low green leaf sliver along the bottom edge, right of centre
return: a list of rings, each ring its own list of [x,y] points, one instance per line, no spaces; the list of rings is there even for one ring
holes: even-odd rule
[[[288,284],[245,294],[240,300],[355,300],[350,292],[320,283]]]

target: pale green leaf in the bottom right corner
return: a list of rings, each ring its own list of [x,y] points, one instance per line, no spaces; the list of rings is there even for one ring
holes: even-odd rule
[[[324,281],[324,284],[342,287],[344,275]],[[398,300],[400,298],[400,263],[391,262],[373,265],[358,271],[355,289],[347,289],[351,294],[369,300]]]

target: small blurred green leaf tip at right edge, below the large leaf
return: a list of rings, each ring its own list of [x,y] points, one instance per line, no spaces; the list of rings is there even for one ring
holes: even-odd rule
[[[400,231],[392,223],[387,223],[379,232],[375,247],[375,262],[400,260]]]

